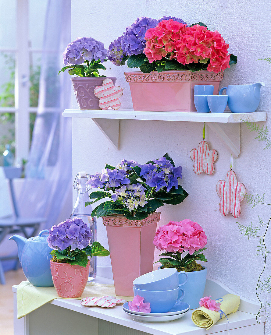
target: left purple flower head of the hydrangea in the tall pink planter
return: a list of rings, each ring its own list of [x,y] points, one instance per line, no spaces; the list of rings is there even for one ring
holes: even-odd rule
[[[101,188],[107,190],[110,187],[129,184],[130,180],[126,177],[126,170],[124,169],[105,169],[102,170],[102,173],[91,175],[87,184],[90,185],[90,189]]]

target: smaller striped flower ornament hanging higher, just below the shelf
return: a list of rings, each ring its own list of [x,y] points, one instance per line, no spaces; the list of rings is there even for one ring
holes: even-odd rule
[[[215,149],[209,149],[208,142],[203,140],[199,143],[198,149],[190,151],[190,158],[194,161],[193,171],[196,175],[203,172],[212,175],[215,171],[214,162],[218,158],[218,153]]]

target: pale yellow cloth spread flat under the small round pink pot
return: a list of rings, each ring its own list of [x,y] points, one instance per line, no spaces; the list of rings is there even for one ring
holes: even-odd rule
[[[88,296],[101,297],[104,295],[116,296],[114,285],[88,283],[82,296],[74,299],[81,300]],[[127,296],[117,295],[116,297],[128,301],[132,300],[131,297]],[[57,298],[59,298],[59,296],[54,287],[37,287],[33,286],[28,280],[22,281],[17,287],[17,318],[20,319],[26,314]]]

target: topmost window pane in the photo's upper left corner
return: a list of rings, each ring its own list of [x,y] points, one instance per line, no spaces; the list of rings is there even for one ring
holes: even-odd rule
[[[0,0],[0,48],[16,49],[16,0]]]

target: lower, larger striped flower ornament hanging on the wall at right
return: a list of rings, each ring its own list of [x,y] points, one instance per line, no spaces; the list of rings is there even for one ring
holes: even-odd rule
[[[225,216],[230,212],[233,217],[239,217],[241,214],[240,202],[245,198],[246,187],[244,184],[237,182],[235,172],[228,171],[225,180],[218,181],[216,192],[220,197],[220,213]]]

